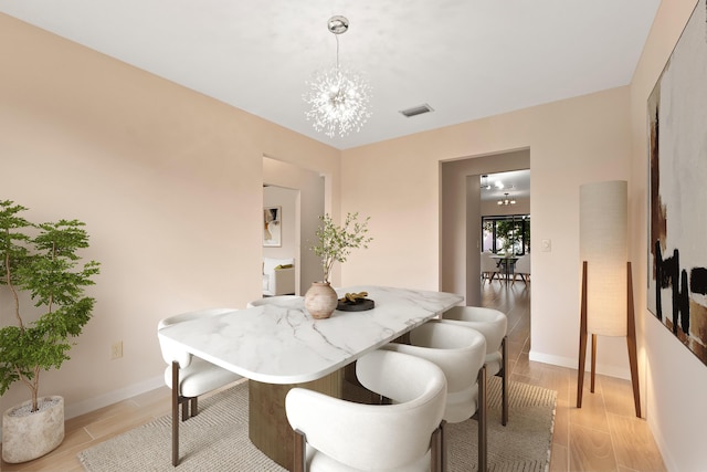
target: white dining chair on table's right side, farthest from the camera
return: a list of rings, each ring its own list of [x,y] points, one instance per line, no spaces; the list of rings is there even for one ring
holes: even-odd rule
[[[502,423],[508,422],[508,318],[498,310],[481,306],[453,306],[442,313],[442,322],[466,326],[486,338],[486,374],[502,378]]]

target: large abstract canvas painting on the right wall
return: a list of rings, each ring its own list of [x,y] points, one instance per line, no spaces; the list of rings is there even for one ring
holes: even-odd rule
[[[647,105],[647,306],[707,365],[707,0],[698,0]]]

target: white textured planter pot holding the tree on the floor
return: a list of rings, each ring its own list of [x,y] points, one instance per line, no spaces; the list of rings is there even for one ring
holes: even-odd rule
[[[42,397],[42,402],[54,402],[39,411],[29,412],[32,401],[8,409],[2,413],[2,460],[9,463],[27,462],[53,451],[64,440],[64,398]],[[27,410],[23,412],[22,410]],[[19,412],[18,412],[19,411]]]

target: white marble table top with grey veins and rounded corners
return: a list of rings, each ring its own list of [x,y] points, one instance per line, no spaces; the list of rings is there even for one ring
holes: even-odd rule
[[[314,319],[304,298],[168,326],[158,336],[243,377],[267,384],[316,380],[423,324],[464,298],[444,292],[354,286],[376,307]]]

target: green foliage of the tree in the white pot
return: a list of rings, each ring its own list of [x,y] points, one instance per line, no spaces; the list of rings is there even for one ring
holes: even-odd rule
[[[21,381],[38,409],[40,373],[59,369],[68,360],[71,337],[88,323],[95,300],[84,296],[99,264],[80,265],[78,250],[88,248],[84,223],[77,220],[33,224],[21,213],[27,208],[0,201],[0,285],[11,294],[14,326],[0,328],[0,395]],[[43,314],[27,323],[20,292],[28,292]]]

